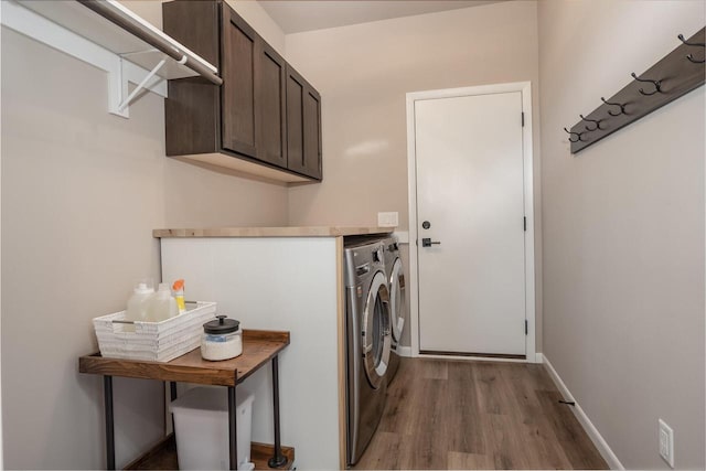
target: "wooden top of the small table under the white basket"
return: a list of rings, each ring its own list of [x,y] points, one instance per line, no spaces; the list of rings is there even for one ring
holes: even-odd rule
[[[236,386],[289,345],[289,332],[243,330],[243,354],[221,362],[201,357],[201,349],[171,362],[105,358],[100,353],[78,358],[81,373]]]

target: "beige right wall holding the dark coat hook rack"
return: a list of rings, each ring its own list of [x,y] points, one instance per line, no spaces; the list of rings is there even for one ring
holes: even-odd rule
[[[542,1],[544,353],[629,469],[704,469],[704,87],[578,154],[564,126],[704,26],[703,1]]]

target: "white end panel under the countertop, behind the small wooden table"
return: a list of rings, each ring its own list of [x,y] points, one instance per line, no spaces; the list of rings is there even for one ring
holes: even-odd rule
[[[280,354],[282,443],[300,469],[339,468],[336,247],[334,237],[163,238],[162,277],[186,299],[218,302],[244,329],[288,330]],[[254,392],[253,440],[272,442],[271,368]]]

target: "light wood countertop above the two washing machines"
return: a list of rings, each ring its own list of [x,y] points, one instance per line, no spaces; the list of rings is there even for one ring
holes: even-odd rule
[[[394,227],[212,227],[154,229],[152,236],[168,237],[339,237],[367,234],[391,234]]]

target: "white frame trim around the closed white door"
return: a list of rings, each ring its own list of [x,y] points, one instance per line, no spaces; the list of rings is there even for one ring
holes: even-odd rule
[[[525,335],[527,363],[537,363],[536,317],[535,317],[535,257],[534,257],[534,156],[532,152],[532,84],[514,82],[507,84],[481,85],[461,88],[407,93],[407,173],[409,197],[409,324],[411,334],[411,356],[427,356],[419,353],[419,276],[417,259],[417,156],[415,147],[415,101],[436,98],[452,98],[473,95],[491,95],[520,92],[525,126],[522,128],[522,154],[524,169],[524,204],[527,217],[525,232],[525,319],[528,329]],[[474,360],[473,356],[464,356]],[[482,360],[482,358],[478,358]]]

